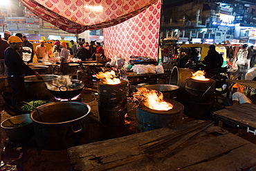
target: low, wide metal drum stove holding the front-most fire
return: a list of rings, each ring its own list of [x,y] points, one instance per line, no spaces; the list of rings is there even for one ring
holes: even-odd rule
[[[171,110],[160,111],[140,105],[136,111],[136,132],[146,132],[158,128],[171,128],[183,122],[184,106],[173,99],[165,99],[174,106]]]

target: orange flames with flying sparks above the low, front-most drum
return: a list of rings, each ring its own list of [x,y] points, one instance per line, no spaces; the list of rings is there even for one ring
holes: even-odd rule
[[[167,111],[173,108],[171,103],[163,100],[163,93],[156,90],[147,90],[147,88],[138,88],[138,92],[134,93],[135,99],[143,99],[143,103],[147,108],[152,110]]]

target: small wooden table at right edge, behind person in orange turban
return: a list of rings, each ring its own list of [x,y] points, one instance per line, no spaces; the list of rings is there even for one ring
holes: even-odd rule
[[[242,86],[246,86],[247,96],[250,97],[250,92],[256,92],[256,81],[253,80],[237,80],[237,79],[226,79],[226,82],[228,83],[227,88],[229,88],[231,85],[235,83],[239,83]],[[227,92],[227,98],[229,96],[230,90]]]

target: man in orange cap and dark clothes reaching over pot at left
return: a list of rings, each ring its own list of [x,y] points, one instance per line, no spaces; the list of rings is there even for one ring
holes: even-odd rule
[[[8,38],[8,43],[10,47],[4,51],[4,57],[8,67],[8,81],[10,88],[12,88],[12,106],[15,114],[18,115],[21,114],[19,107],[25,96],[24,75],[35,74],[37,79],[42,79],[42,77],[22,61],[21,54],[17,51],[22,47],[21,39],[17,36],[11,36]]]

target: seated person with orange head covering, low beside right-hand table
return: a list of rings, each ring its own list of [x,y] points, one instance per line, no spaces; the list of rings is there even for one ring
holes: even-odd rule
[[[239,105],[241,103],[252,103],[248,97],[244,94],[244,86],[239,83],[235,83],[231,89],[232,92],[232,104]]]

